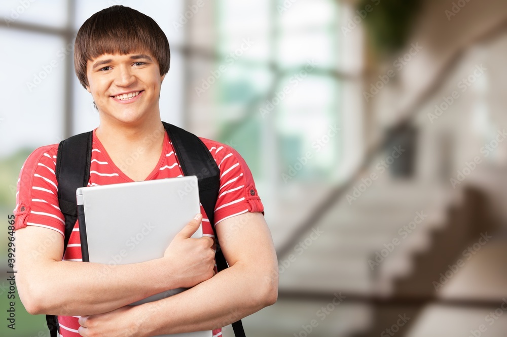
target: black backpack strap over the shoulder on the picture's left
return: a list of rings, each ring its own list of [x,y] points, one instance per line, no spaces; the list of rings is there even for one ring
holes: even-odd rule
[[[58,182],[58,203],[65,218],[63,254],[67,248],[70,234],[76,225],[76,189],[88,184],[92,156],[93,133],[86,132],[60,142],[56,155],[56,181]],[[58,320],[54,315],[46,315],[51,337],[57,337]]]

